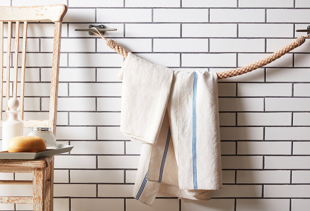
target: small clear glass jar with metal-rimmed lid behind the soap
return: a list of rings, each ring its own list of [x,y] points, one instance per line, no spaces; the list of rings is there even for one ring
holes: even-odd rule
[[[28,135],[39,136],[45,140],[47,149],[56,149],[56,138],[50,127],[32,127]]]

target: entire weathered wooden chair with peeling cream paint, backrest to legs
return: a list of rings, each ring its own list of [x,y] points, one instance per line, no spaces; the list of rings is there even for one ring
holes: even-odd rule
[[[58,76],[60,60],[60,38],[61,24],[64,15],[67,12],[66,5],[47,5],[33,7],[0,7],[0,95],[3,96],[3,26],[4,22],[8,24],[7,31],[7,76],[6,84],[6,108],[10,96],[10,66],[11,66],[11,37],[12,23],[15,22],[15,51],[14,51],[14,78],[13,94],[17,98],[17,73],[18,73],[18,52],[19,52],[19,28],[23,23],[23,40],[21,53],[21,80],[20,80],[20,120],[23,121],[24,127],[31,126],[49,126],[52,132],[56,132],[56,115],[57,115],[57,98],[58,98]],[[54,22],[54,48],[52,56],[52,73],[51,73],[51,94],[48,120],[24,120],[24,83],[26,67],[26,41],[27,25],[29,22],[47,21]],[[0,100],[2,108],[2,99]],[[0,112],[0,127],[2,127],[2,112]],[[53,172],[54,156],[39,158],[35,160],[13,160],[0,159],[0,172],[11,173],[32,173],[33,180],[0,180],[0,184],[33,184],[33,197],[19,196],[0,196],[0,203],[9,204],[33,204],[34,211],[53,210]]]

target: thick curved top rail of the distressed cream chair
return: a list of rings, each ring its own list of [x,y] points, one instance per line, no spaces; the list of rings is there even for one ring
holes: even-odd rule
[[[62,22],[67,10],[67,6],[64,4],[29,7],[0,7],[0,20]]]

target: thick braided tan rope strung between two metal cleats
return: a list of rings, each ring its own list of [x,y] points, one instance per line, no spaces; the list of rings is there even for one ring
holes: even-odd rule
[[[97,33],[95,33],[95,34],[97,34],[98,36],[103,38],[106,41],[106,44],[110,48],[114,49],[118,54],[122,55],[124,58],[127,57],[128,51],[126,51],[124,48],[119,46],[114,40],[105,38],[100,33],[100,31],[98,29],[96,29],[94,27],[92,29],[95,29],[97,31]],[[306,41],[306,38],[308,38],[308,37],[310,37],[310,34],[308,34],[306,37],[304,37],[304,36],[297,37],[293,42],[284,46],[279,51],[276,51],[276,52],[266,56],[265,58],[263,58],[257,62],[254,62],[252,64],[249,64],[247,66],[216,73],[218,76],[218,79],[224,79],[224,78],[242,75],[244,73],[249,73],[253,70],[261,68],[261,67],[273,62],[274,60],[279,59],[281,56],[287,54],[288,52],[292,51],[293,49],[301,46]]]

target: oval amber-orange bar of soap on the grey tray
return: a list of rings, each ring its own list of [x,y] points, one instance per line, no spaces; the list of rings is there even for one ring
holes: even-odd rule
[[[38,136],[17,136],[7,144],[8,152],[41,152],[46,150],[46,142]]]

